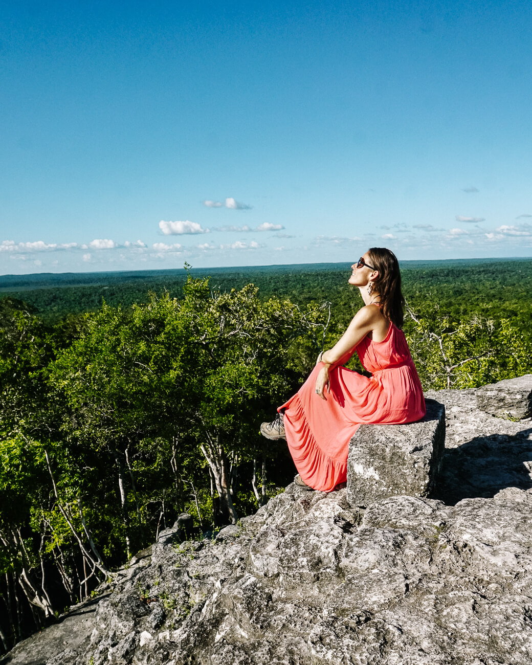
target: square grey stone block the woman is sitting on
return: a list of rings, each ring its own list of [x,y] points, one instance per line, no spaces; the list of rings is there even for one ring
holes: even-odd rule
[[[425,497],[436,485],[445,447],[445,407],[426,400],[423,420],[361,425],[349,444],[347,500],[367,506],[384,497]]]

